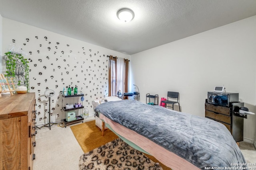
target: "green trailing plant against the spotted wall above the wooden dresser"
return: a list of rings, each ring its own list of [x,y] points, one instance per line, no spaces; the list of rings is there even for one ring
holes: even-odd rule
[[[24,85],[29,90],[29,61],[25,59],[22,54],[7,52],[4,53],[6,61],[6,77],[13,77],[17,80],[17,85]]]

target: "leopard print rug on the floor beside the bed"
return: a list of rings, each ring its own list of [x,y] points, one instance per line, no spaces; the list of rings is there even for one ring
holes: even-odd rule
[[[118,138],[82,154],[79,170],[163,170],[142,152]]]

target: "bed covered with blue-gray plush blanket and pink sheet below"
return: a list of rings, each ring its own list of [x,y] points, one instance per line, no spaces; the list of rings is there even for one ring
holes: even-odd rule
[[[173,170],[246,167],[232,135],[216,121],[136,100],[105,102],[94,110],[126,143]]]

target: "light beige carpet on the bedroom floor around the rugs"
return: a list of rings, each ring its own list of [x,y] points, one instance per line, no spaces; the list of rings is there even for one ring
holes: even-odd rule
[[[93,122],[94,121],[91,122],[92,125]],[[83,123],[74,124],[72,126],[80,124]],[[101,131],[96,127],[95,123],[94,127],[96,128],[96,131],[98,131],[99,135],[101,135]],[[86,133],[84,129],[80,129],[80,131],[81,133]],[[108,131],[109,130],[107,130],[106,133]],[[70,126],[62,128],[57,125],[52,125],[51,130],[49,130],[48,127],[44,127],[42,129],[38,129],[37,132],[36,147],[34,148],[36,159],[33,161],[33,170],[78,170],[79,159],[84,151],[74,137]],[[91,136],[90,139],[88,138],[86,140],[86,143],[94,142],[94,136]],[[256,149],[252,144],[246,148],[243,147],[244,145],[246,145],[246,143],[240,143],[240,149],[242,150],[246,161],[256,163]],[[153,160],[150,156],[148,157]],[[158,162],[157,160],[153,161]]]

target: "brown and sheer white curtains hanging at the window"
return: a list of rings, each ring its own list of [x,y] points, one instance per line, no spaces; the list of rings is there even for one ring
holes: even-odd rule
[[[116,96],[117,92],[128,92],[129,61],[118,57],[109,57],[108,96]]]

